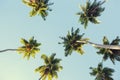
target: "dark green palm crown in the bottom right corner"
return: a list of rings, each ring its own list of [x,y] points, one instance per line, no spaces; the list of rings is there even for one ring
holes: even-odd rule
[[[97,68],[90,67],[90,69],[92,70],[90,75],[96,76],[95,80],[114,80],[111,77],[114,69],[108,67],[103,68],[102,63],[99,63]]]

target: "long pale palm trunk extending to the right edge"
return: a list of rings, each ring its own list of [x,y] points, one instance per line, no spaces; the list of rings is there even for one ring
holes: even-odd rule
[[[89,43],[92,46],[97,47],[97,48],[120,50],[120,45],[102,45],[102,44],[96,44],[96,43],[89,42],[89,41],[77,41],[77,42],[79,42],[79,43]]]

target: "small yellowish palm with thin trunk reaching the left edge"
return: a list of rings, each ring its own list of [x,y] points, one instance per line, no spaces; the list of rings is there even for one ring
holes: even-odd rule
[[[0,50],[0,52],[17,51],[18,53],[23,54],[24,57],[29,59],[30,56],[35,57],[35,54],[40,51],[38,47],[41,45],[41,43],[37,43],[37,40],[34,40],[34,37],[30,38],[29,41],[22,38],[21,43],[23,44],[23,46],[17,49],[5,49]]]

